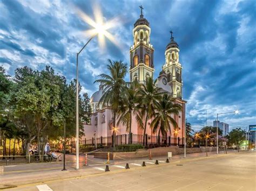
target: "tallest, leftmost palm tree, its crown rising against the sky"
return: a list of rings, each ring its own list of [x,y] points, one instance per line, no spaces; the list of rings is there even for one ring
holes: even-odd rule
[[[104,94],[99,102],[103,105],[111,105],[113,112],[113,148],[116,148],[116,115],[121,101],[121,95],[125,90],[126,82],[124,81],[127,72],[127,66],[122,61],[111,61],[107,65],[110,75],[100,74],[99,80],[95,83],[100,83],[103,86]]]

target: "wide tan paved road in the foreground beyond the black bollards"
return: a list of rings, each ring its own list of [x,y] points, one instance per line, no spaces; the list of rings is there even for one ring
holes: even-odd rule
[[[130,169],[120,169],[119,165],[112,165],[111,172],[104,172],[104,169],[100,169],[103,167],[96,166],[102,173],[23,185],[10,190],[255,190],[256,188],[256,152],[180,159],[173,160],[169,164],[151,163],[146,163],[146,167],[138,166],[136,163],[130,164]]]

